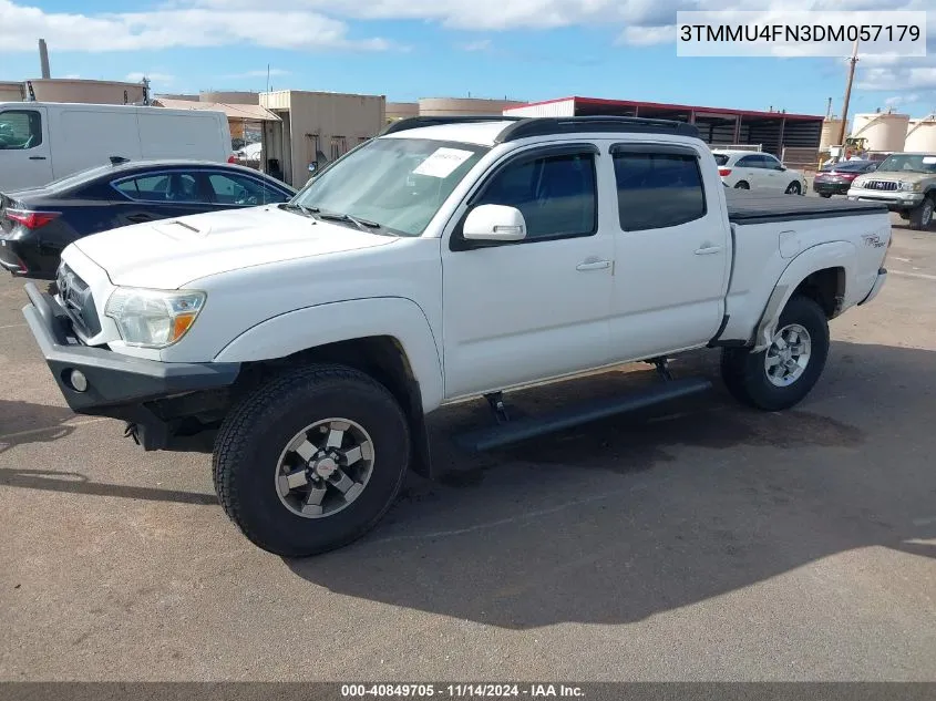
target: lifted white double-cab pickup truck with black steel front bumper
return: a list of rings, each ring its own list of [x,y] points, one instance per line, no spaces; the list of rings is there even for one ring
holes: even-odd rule
[[[368,532],[425,415],[486,396],[477,450],[709,389],[666,359],[720,348],[739,400],[801,401],[827,321],[886,278],[886,206],[727,190],[689,124],[398,122],[290,203],[128,226],[62,255],[23,313],[69,405],[145,450],[217,431],[220,503],[308,556]],[[629,361],[659,386],[511,420],[502,392]]]

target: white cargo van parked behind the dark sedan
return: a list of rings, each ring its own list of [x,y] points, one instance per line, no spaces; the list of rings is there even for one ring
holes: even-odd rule
[[[233,156],[224,112],[0,102],[0,192],[41,187],[110,158]]]

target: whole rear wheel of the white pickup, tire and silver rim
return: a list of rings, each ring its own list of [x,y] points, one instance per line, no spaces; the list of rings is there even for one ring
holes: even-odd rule
[[[800,403],[819,381],[829,355],[829,321],[812,299],[795,296],[786,302],[771,344],[759,353],[726,348],[721,377],[743,404],[781,411]]]

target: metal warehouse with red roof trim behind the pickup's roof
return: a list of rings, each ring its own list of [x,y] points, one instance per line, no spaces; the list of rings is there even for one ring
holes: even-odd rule
[[[789,114],[703,107],[699,105],[662,104],[634,100],[603,100],[599,97],[560,97],[532,102],[504,110],[512,116],[587,116],[619,115],[679,120],[696,124],[701,137],[711,145],[759,145],[762,151],[784,157],[784,150],[819,151],[822,134],[821,115]],[[804,154],[798,153],[793,161]],[[813,158],[808,158],[814,161]]]

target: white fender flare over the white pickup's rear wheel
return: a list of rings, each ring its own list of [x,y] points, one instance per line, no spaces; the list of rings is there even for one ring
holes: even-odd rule
[[[855,245],[850,241],[831,241],[806,248],[783,269],[773,292],[764,306],[761,318],[753,333],[752,353],[768,348],[776,331],[780,315],[793,296],[793,292],[810,275],[826,268],[844,268],[845,285],[854,279],[856,260]]]

